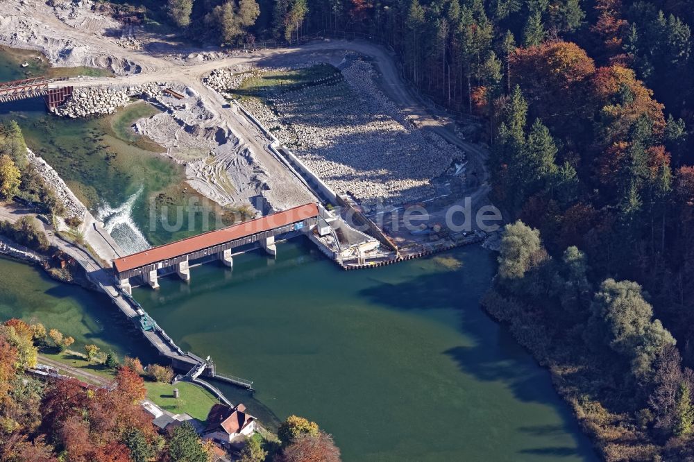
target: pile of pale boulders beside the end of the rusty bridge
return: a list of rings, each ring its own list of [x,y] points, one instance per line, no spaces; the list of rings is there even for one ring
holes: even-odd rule
[[[71,119],[113,114],[119,107],[128,104],[133,96],[142,96],[144,99],[156,98],[161,96],[162,89],[159,83],[135,87],[79,88],[65,104],[51,110],[58,116]]]

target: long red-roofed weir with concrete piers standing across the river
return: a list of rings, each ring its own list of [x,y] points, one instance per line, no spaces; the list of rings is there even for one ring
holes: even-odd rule
[[[182,280],[190,280],[189,266],[192,261],[205,262],[217,259],[231,268],[234,264],[232,250],[248,250],[257,246],[275,256],[276,237],[289,239],[310,233],[316,228],[318,219],[318,205],[300,205],[221,230],[205,232],[119,257],[112,262],[113,271],[119,288],[129,295],[132,294],[132,278],[158,289],[158,277],[174,271]]]

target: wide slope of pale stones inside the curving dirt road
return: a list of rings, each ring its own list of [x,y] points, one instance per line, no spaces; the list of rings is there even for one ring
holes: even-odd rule
[[[247,101],[246,108],[339,194],[365,205],[434,196],[431,180],[464,153],[416,128],[376,87],[369,63],[355,60],[301,89]]]

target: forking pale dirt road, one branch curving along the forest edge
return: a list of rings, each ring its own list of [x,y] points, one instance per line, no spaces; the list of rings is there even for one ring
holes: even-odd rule
[[[16,11],[15,14],[27,17],[30,22],[40,24],[42,32],[39,34],[45,33],[51,37],[59,35],[60,40],[68,40],[83,46],[87,49],[86,53],[99,55],[100,58],[108,57],[115,62],[127,63],[127,69],[121,70],[129,71],[129,75],[115,78],[75,79],[70,83],[74,87],[139,85],[160,81],[179,83],[194,89],[203,99],[205,107],[213,114],[214,121],[219,123],[219,126],[232,130],[235,135],[251,147],[257,160],[263,164],[268,175],[274,179],[273,184],[276,191],[271,191],[271,194],[278,198],[303,200],[303,198],[311,198],[312,196],[305,186],[267,149],[268,140],[262,136],[260,131],[241,114],[235,114],[225,108],[224,99],[203,84],[203,76],[214,69],[251,63],[259,66],[288,66],[307,61],[337,64],[344,57],[344,53],[348,51],[368,56],[380,72],[378,83],[384,94],[389,96],[398,108],[414,121],[416,126],[423,130],[436,132],[443,139],[458,146],[466,153],[468,171],[475,172],[475,176],[471,178],[476,180],[474,185],[476,190],[471,191],[470,194],[475,196],[475,201],[486,197],[487,174],[484,165],[486,149],[460,139],[456,135],[451,121],[446,119],[446,114],[439,112],[437,117],[433,117],[434,108],[430,107],[427,101],[403,82],[396,66],[396,57],[382,46],[363,40],[325,39],[301,46],[266,49],[190,64],[167,55],[153,55],[146,51],[126,49],[112,37],[104,37],[89,30],[69,26],[56,16],[53,8],[40,1],[10,0],[8,1],[8,10],[12,10],[12,8]],[[45,46],[50,47],[50,41],[46,41]]]

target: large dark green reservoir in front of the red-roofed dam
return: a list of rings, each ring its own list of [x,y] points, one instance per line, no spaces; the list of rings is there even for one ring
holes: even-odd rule
[[[319,422],[346,461],[592,458],[548,373],[480,309],[488,251],[350,272],[308,241],[278,253],[134,296],[182,348],[255,381],[253,397],[225,387],[233,400]]]

